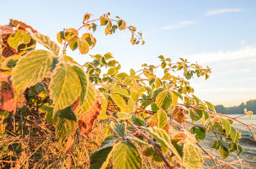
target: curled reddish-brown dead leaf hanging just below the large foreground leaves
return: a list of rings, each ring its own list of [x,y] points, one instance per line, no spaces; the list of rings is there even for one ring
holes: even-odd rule
[[[102,110],[99,100],[96,100],[89,111],[83,113],[79,118],[80,135],[90,140],[93,122]]]

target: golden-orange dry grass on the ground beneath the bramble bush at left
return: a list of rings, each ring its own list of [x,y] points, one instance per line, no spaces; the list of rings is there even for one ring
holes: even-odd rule
[[[65,144],[58,142],[53,125],[44,121],[42,116],[23,116],[21,121],[21,116],[15,115],[15,126],[11,116],[0,123],[1,129],[5,128],[0,132],[1,169],[87,169],[90,166],[90,153],[99,148],[105,137],[113,135],[108,127],[108,120],[97,121],[91,140],[79,137],[78,141],[75,134],[74,151],[65,154]],[[6,137],[3,133],[9,136]],[[141,153],[144,148],[140,148]],[[143,157],[143,164],[145,169],[164,168],[162,163],[153,164],[149,157]],[[109,166],[112,168],[111,162]]]

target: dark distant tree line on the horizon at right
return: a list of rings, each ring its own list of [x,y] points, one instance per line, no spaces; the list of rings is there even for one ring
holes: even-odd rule
[[[244,114],[244,108],[247,111],[256,113],[256,100],[249,100],[246,103],[241,103],[239,106],[224,107],[223,105],[214,106],[218,113],[222,114]]]

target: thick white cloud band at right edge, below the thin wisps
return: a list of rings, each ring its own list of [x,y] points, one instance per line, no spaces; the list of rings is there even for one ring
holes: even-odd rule
[[[199,54],[191,54],[184,56],[189,59],[190,62],[198,63],[210,63],[210,62],[221,62],[227,60],[244,59],[250,57],[256,57],[256,45],[245,46],[234,51],[213,51],[203,52]]]

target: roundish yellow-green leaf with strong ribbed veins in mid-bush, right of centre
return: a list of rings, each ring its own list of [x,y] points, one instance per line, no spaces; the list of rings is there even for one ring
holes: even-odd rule
[[[172,104],[172,93],[169,91],[160,92],[156,97],[155,103],[157,107],[168,110]]]

